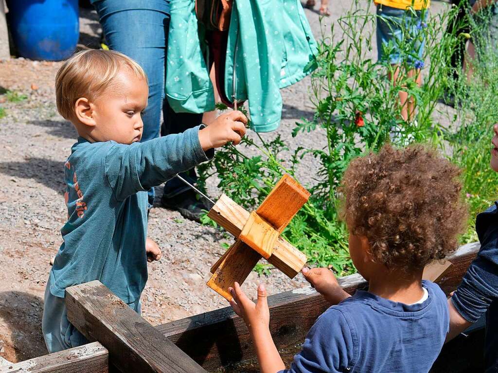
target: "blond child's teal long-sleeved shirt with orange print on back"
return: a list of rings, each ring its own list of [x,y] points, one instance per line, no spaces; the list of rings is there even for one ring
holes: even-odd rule
[[[208,160],[199,128],[131,145],[78,138],[64,165],[68,220],[50,271],[52,295],[100,280],[128,304],[139,299],[147,281],[146,191]]]

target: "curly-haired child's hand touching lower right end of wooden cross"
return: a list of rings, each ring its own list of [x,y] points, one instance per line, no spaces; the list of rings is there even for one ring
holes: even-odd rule
[[[336,276],[328,268],[306,268],[301,272],[304,278],[331,304],[337,304],[350,297],[337,283]]]

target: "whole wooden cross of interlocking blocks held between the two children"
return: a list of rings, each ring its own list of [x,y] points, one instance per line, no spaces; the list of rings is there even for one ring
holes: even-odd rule
[[[290,278],[299,273],[306,255],[279,236],[309,197],[310,193],[289,175],[284,175],[250,214],[222,195],[208,216],[237,241],[211,267],[213,275],[207,285],[231,300],[228,288],[235,281],[242,284],[261,257]]]

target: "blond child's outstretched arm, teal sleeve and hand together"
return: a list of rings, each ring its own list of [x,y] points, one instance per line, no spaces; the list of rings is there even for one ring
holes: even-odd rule
[[[148,190],[179,172],[207,161],[207,150],[232,141],[238,144],[246,133],[247,118],[241,112],[225,114],[208,127],[197,126],[131,145],[115,144],[106,155],[106,175],[118,200]]]

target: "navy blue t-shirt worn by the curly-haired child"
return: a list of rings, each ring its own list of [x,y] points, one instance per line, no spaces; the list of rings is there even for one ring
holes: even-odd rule
[[[427,299],[407,305],[357,291],[325,311],[289,370],[279,373],[428,372],[449,330],[446,295],[422,281]]]

